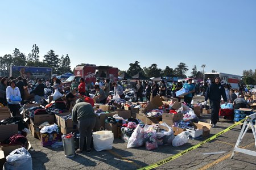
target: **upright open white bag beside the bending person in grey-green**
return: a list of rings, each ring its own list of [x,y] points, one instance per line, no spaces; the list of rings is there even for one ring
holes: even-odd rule
[[[111,150],[113,147],[114,134],[110,130],[93,132],[93,147],[96,151]]]

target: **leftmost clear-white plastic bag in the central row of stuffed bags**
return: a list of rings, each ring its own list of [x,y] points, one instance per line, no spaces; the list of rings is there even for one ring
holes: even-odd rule
[[[127,148],[140,147],[143,144],[144,144],[144,131],[141,128],[141,126],[137,126],[137,128],[134,129],[133,134],[131,134],[131,137],[128,139]]]

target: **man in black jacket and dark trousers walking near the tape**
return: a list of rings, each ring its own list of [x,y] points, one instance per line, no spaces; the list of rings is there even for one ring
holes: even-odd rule
[[[210,107],[212,108],[212,114],[210,116],[210,124],[212,127],[216,127],[218,121],[218,112],[220,111],[221,96],[223,100],[227,101],[224,87],[220,83],[220,77],[214,78],[214,82],[210,84],[205,93],[205,104],[207,100],[210,100]]]

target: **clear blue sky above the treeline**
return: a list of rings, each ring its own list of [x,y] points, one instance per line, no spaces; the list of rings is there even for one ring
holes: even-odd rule
[[[205,72],[255,70],[256,1],[0,1],[0,56],[39,46],[120,70],[139,61]]]

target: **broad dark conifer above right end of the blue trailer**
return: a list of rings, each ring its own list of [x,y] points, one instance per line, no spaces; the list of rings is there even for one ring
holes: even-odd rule
[[[59,55],[55,54],[55,52],[51,49],[44,55],[43,62],[46,62],[49,66],[52,67],[52,71],[55,74],[60,74],[60,59],[58,58]]]

